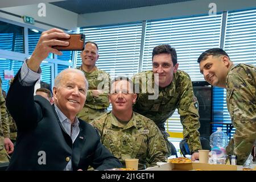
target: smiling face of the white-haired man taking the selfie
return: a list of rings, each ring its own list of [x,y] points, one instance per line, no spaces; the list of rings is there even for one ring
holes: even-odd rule
[[[83,73],[67,72],[53,87],[54,102],[67,118],[73,119],[82,110],[86,100],[86,83]]]

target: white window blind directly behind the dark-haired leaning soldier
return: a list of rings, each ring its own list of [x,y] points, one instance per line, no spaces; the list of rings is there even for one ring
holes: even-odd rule
[[[204,77],[199,71],[197,58],[205,50],[220,46],[221,19],[222,15],[217,14],[148,20],[146,23],[142,70],[152,69],[152,49],[155,46],[170,44],[176,49],[179,69],[187,72],[192,81],[204,81]],[[167,131],[178,133],[183,131],[177,110],[168,119]],[[179,140],[171,138],[172,142]]]

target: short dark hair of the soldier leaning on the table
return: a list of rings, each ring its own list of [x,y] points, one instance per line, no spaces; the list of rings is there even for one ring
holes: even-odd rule
[[[152,60],[155,55],[160,55],[161,53],[167,53],[171,55],[172,63],[174,66],[177,64],[177,53],[175,48],[171,47],[169,44],[156,46],[152,51]]]

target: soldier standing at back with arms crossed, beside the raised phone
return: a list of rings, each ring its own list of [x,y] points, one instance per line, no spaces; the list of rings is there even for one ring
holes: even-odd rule
[[[84,108],[77,114],[77,117],[84,121],[91,122],[94,118],[106,113],[109,107],[109,73],[96,67],[98,60],[98,46],[94,42],[86,42],[81,52],[82,65],[77,69],[84,72],[89,83]]]

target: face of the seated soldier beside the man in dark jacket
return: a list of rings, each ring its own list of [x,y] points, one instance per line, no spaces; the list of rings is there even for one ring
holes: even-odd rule
[[[133,93],[130,82],[127,80],[119,80],[111,85],[109,102],[112,104],[113,111],[132,111],[137,94]]]

